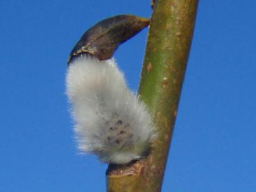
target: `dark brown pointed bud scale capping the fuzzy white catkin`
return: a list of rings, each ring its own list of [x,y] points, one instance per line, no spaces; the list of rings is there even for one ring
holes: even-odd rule
[[[133,15],[117,15],[99,21],[80,38],[70,53],[68,64],[83,53],[94,55],[99,60],[110,59],[119,44],[139,33],[149,22]]]

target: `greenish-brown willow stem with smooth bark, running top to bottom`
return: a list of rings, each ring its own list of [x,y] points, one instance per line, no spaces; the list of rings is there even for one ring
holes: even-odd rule
[[[180,91],[196,18],[197,0],[157,0],[154,5],[139,97],[151,112],[157,137],[150,155],[129,165],[110,165],[107,189],[161,191]]]

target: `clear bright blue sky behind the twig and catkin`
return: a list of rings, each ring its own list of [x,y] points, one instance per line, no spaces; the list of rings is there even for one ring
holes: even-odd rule
[[[149,0],[0,1],[0,191],[105,191],[106,164],[78,155],[69,51]],[[256,1],[200,1],[162,191],[256,191]],[[147,30],[115,54],[137,90]]]

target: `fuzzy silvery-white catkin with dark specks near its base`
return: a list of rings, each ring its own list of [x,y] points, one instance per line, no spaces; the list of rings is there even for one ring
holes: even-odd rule
[[[69,64],[66,83],[81,152],[112,164],[144,157],[153,135],[151,117],[113,59],[80,55]]]

